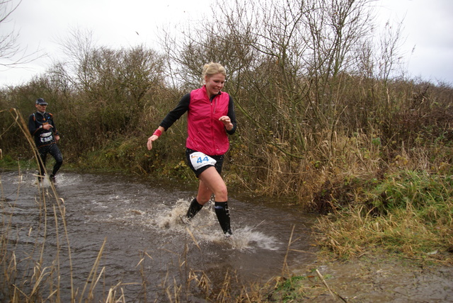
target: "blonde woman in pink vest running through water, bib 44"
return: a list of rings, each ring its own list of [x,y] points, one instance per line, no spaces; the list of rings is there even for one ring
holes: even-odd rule
[[[205,84],[180,99],[176,108],[148,138],[147,147],[168,130],[185,112],[188,113],[188,137],[185,156],[199,179],[197,196],[190,203],[186,217],[192,219],[214,195],[214,210],[226,236],[232,234],[228,210],[228,190],[221,176],[229,137],[236,132],[233,98],[222,91],[226,80],[224,67],[210,62],[203,67]]]

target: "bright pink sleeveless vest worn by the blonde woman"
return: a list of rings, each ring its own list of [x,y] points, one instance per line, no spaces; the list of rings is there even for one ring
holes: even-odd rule
[[[228,105],[229,95],[223,91],[212,102],[207,97],[205,86],[191,91],[185,146],[209,156],[225,154],[229,149],[229,139],[219,118],[228,114]]]

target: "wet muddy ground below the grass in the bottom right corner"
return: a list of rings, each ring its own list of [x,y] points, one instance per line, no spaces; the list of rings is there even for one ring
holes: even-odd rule
[[[269,301],[453,302],[453,266],[448,264],[360,258],[310,265],[297,275],[301,278],[286,280],[285,289]]]

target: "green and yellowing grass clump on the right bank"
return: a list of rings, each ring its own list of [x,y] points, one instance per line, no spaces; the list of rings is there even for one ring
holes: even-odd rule
[[[385,252],[451,263],[452,190],[451,175],[406,170],[354,188],[354,203],[319,220],[319,244],[339,258]]]

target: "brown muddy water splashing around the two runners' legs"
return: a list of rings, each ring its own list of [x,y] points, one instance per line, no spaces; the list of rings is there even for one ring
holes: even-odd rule
[[[2,234],[16,252],[18,270],[31,277],[35,261],[42,259],[41,268],[57,263],[58,274],[47,278],[55,280],[63,302],[71,289],[79,296],[84,292],[93,269],[99,277],[94,301],[105,299],[117,285],[117,297],[122,293],[127,302],[165,302],[166,292],[174,294],[176,285],[180,297],[203,297],[203,284],[197,286],[203,277],[214,292],[226,276],[234,277],[231,292],[239,292],[242,285],[281,275],[285,260],[289,271],[314,261],[310,227],[315,218],[278,199],[230,194],[234,236],[226,239],[211,202],[189,224],[181,221],[195,188],[120,175],[60,173],[55,195],[47,181],[38,185],[32,172],[0,177],[3,222],[9,222]]]

